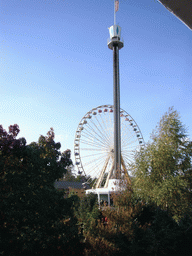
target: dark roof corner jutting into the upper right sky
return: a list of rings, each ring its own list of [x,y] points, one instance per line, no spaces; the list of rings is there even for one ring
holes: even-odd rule
[[[158,0],[170,12],[192,29],[192,1],[191,0]]]

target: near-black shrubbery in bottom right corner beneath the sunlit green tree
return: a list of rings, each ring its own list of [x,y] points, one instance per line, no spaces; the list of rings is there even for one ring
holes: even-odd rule
[[[167,211],[154,204],[145,204],[136,214],[131,255],[170,256],[192,253],[192,218],[183,217],[177,223]]]

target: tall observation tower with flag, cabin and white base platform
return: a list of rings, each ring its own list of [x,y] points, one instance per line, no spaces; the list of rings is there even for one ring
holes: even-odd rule
[[[113,154],[113,167],[108,173],[106,185],[99,187],[102,179],[102,172],[98,178],[96,188],[88,189],[89,193],[97,193],[98,200],[105,201],[110,205],[110,195],[120,189],[121,176],[121,121],[120,121],[120,79],[119,79],[119,50],[123,48],[124,43],[121,40],[121,27],[116,25],[116,12],[119,10],[119,0],[114,1],[114,25],[109,28],[110,38],[107,41],[108,48],[113,51],[113,113],[114,113],[114,148],[111,149]],[[107,195],[105,197],[104,195]]]

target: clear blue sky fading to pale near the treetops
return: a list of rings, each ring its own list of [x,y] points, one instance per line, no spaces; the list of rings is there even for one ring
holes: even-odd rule
[[[92,108],[113,104],[113,0],[0,0],[0,123],[37,141],[54,128],[62,151]],[[121,108],[147,142],[169,107],[192,136],[192,31],[157,0],[120,0]]]

